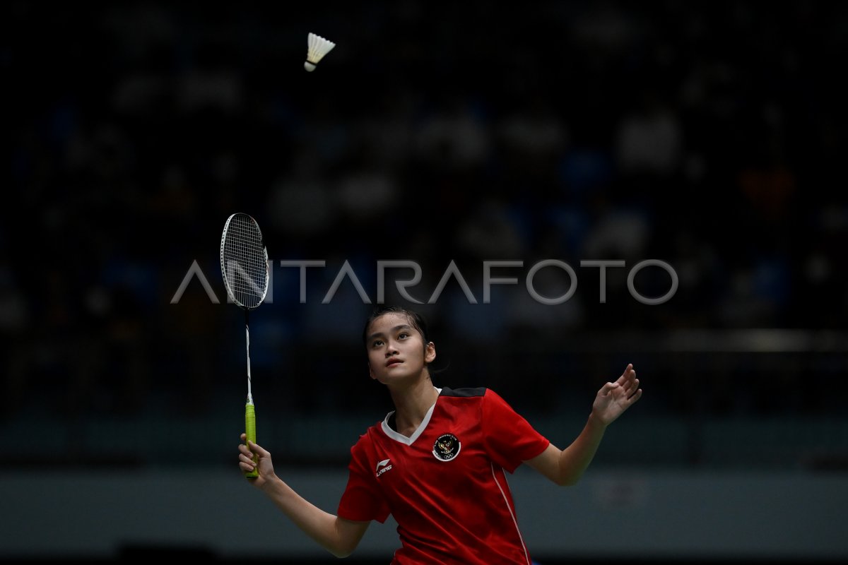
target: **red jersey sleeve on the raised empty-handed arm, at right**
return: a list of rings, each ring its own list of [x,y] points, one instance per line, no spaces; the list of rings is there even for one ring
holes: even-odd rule
[[[486,390],[481,410],[488,456],[509,473],[550,444],[494,391]]]

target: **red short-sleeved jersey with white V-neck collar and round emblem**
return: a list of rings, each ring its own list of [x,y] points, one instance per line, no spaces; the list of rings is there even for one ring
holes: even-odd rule
[[[350,450],[338,516],[392,514],[402,544],[394,565],[530,565],[504,471],[550,442],[485,388],[441,389],[410,437],[392,429],[393,415]]]

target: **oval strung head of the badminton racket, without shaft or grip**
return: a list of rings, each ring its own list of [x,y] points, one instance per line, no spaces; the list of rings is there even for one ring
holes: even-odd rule
[[[262,230],[249,214],[238,212],[226,219],[220,236],[220,274],[231,302],[253,310],[265,300],[271,266]]]

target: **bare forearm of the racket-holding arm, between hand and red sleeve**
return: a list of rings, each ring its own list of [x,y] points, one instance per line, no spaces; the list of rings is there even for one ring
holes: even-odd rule
[[[347,557],[354,550],[359,540],[343,538],[337,516],[305,500],[281,479],[272,479],[262,490],[299,529],[334,556]]]

